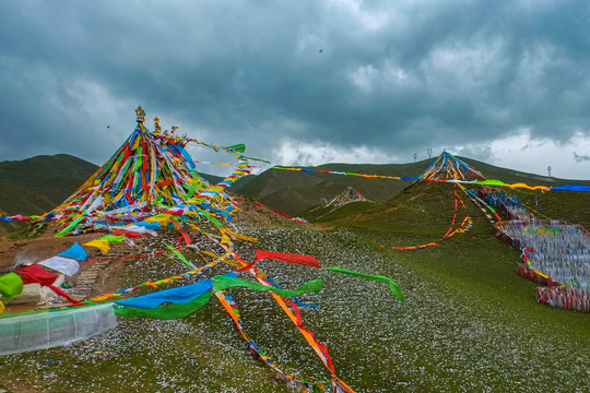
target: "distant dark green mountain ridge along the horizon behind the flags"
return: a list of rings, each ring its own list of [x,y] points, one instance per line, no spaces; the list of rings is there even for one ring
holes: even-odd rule
[[[471,158],[459,158],[480,170],[486,178],[506,182],[590,186],[590,180],[558,179],[496,167]],[[333,163],[310,168],[417,177],[432,162],[433,159],[409,164]],[[40,155],[23,160],[0,162],[0,213],[31,215],[48,212],[63,202],[97,168],[98,166],[69,154]],[[222,180],[219,176],[200,175],[212,183]],[[353,187],[371,201],[384,203],[411,183],[412,181],[409,180],[268,169],[260,175],[246,177],[229,191],[255,198],[269,207],[296,215],[316,206],[322,196],[332,199],[347,187]]]

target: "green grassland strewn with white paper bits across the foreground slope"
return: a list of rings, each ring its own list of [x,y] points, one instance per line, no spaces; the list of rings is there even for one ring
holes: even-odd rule
[[[459,210],[473,219],[468,233],[420,250],[387,247],[438,239],[448,229],[452,204],[452,186],[417,184],[384,206],[339,217],[333,230],[256,219],[238,228],[260,239],[258,249],[314,254],[322,266],[387,275],[401,286],[403,303],[380,283],[260,263],[288,288],[323,278],[319,295],[300,297],[320,307],[303,308],[304,323],[331,348],[338,376],[357,392],[588,391],[590,319],[538,303],[535,285],[516,275],[519,253],[492,235],[489,221],[469,201]],[[251,245],[237,249],[253,258]],[[125,269],[122,286],[182,267],[170,260],[139,260]],[[304,380],[329,379],[268,295],[237,288],[231,295],[245,332],[280,368]],[[56,392],[288,391],[248,355],[215,301],[177,321],[120,323],[64,348],[0,358],[0,381],[20,378],[38,391]]]

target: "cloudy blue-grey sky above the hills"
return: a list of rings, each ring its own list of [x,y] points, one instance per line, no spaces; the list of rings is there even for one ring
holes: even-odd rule
[[[588,1],[3,0],[0,37],[0,162],[101,165],[141,105],[274,165],[445,148],[590,179]]]

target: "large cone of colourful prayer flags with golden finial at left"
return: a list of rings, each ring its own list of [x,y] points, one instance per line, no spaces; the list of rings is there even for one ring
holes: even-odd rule
[[[46,217],[64,224],[59,236],[75,230],[110,228],[138,224],[155,214],[192,215],[202,219],[225,216],[234,209],[224,190],[239,177],[249,174],[241,153],[245,146],[214,146],[187,136],[162,131],[158,118],[155,130],[145,126],[145,112],[135,110],[138,126],[127,141],[68,200]],[[215,187],[201,178],[186,151],[197,143],[216,151],[223,148],[238,159],[238,169]]]

